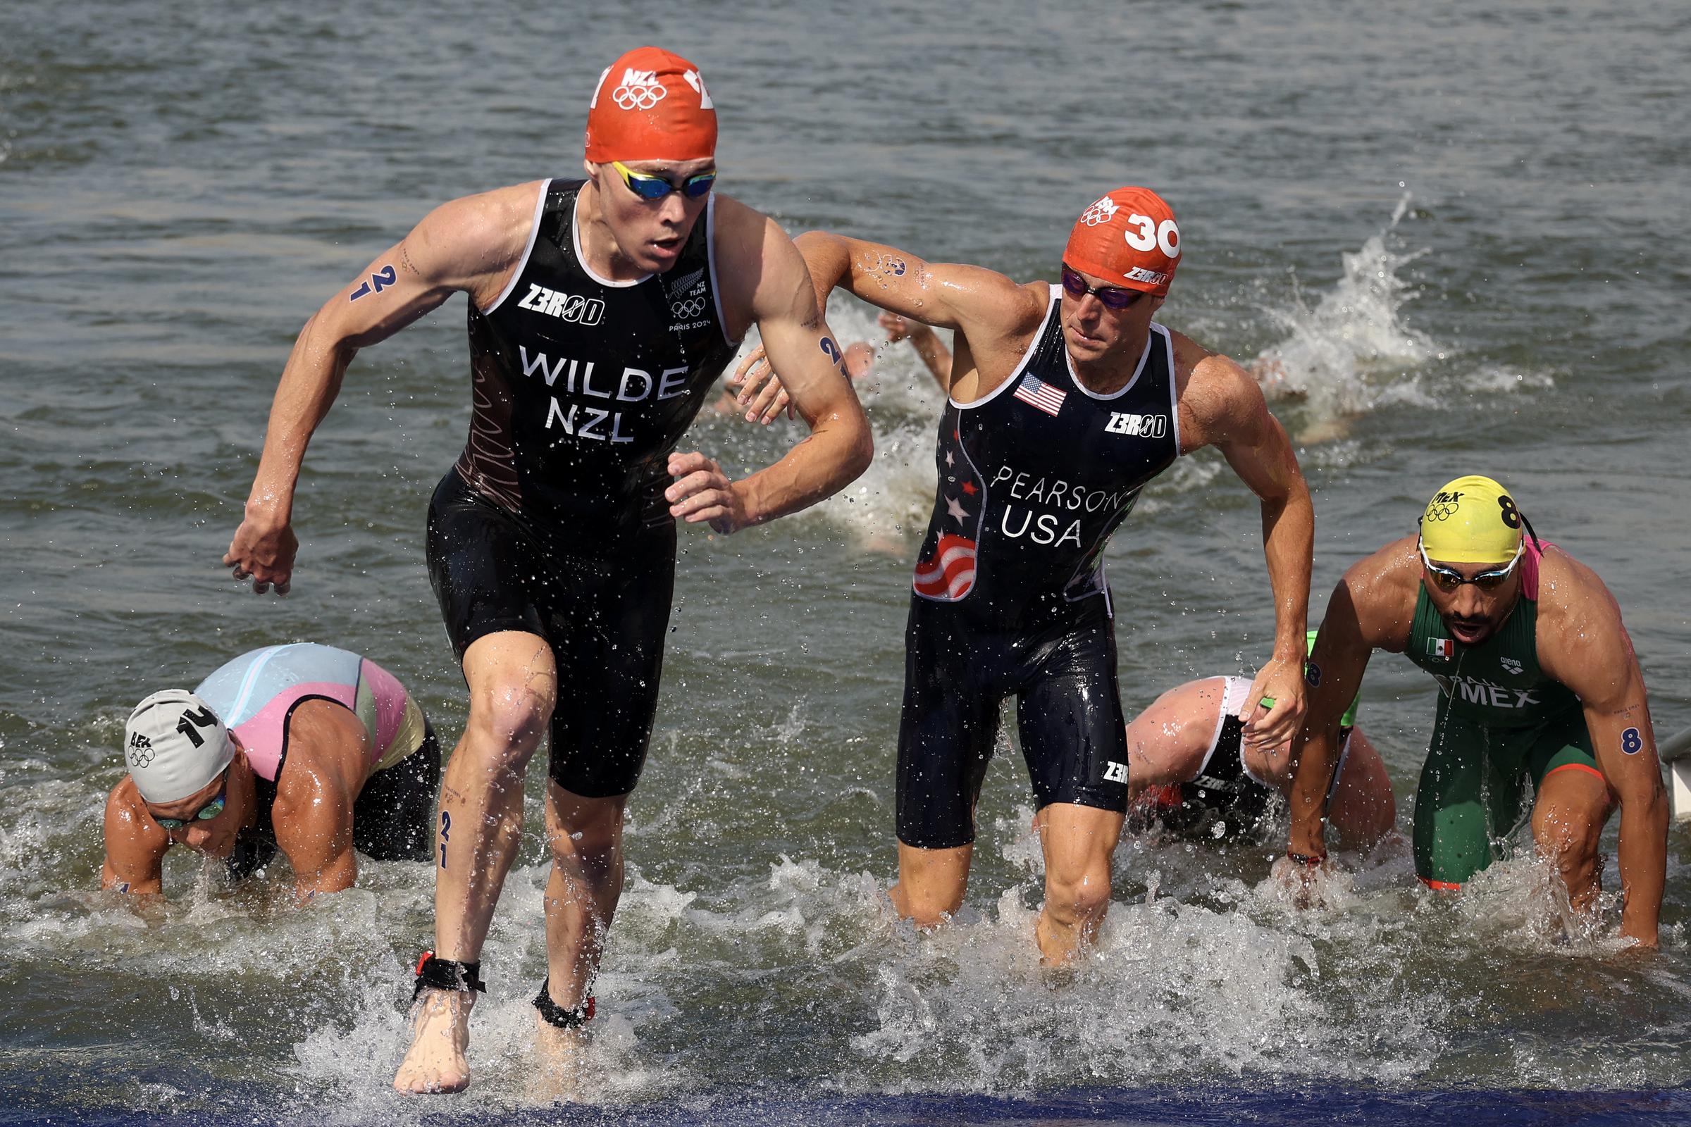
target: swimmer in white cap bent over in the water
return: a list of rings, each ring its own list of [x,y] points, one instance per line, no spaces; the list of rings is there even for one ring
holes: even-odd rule
[[[301,899],[350,889],[355,848],[430,860],[435,730],[391,672],[333,645],[255,649],[193,693],[154,693],[123,728],[123,760],[103,889],[162,892],[172,845],[225,858],[230,879],[281,850]]]

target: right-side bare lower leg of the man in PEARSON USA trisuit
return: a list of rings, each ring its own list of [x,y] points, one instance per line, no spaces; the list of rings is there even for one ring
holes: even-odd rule
[[[1113,809],[1052,803],[1040,819],[1045,906],[1035,924],[1047,963],[1067,963],[1097,934],[1109,909],[1109,858],[1123,816]]]

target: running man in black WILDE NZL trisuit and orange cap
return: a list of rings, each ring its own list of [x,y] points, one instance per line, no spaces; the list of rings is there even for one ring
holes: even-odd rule
[[[430,578],[470,686],[436,840],[435,951],[419,963],[402,1090],[468,1083],[468,1010],[551,730],[543,1048],[592,1015],[622,885],[622,806],[656,708],[675,517],[732,532],[857,476],[869,427],[803,259],[769,218],[710,193],[715,112],[698,69],[641,47],[600,76],[585,181],[436,208],[306,324],[282,373],[227,564],[287,590],[306,441],[353,353],[470,296],[470,439],[430,504]],[[731,482],[671,453],[756,324],[812,427]]]

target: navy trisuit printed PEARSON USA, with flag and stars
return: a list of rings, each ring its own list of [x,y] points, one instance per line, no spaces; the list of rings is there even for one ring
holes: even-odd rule
[[[898,840],[974,841],[974,804],[1016,696],[1040,809],[1126,809],[1128,755],[1104,541],[1180,453],[1168,329],[1101,395],[1069,372],[1062,287],[1025,362],[940,417],[939,495],[905,630]]]

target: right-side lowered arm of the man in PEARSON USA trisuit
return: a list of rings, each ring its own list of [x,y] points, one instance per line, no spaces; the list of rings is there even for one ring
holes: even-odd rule
[[[1273,656],[1251,683],[1241,718],[1245,742],[1278,747],[1304,721],[1304,622],[1316,549],[1316,509],[1285,427],[1268,411],[1261,389],[1245,368],[1174,333],[1179,389],[1180,449],[1221,449],[1228,465],[1261,500],[1263,558],[1273,591]],[[1272,696],[1267,716],[1253,718],[1256,703]]]

